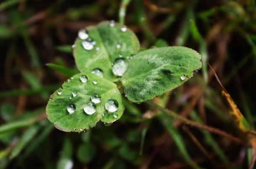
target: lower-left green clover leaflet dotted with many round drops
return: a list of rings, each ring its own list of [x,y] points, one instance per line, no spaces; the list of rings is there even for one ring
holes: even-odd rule
[[[83,75],[88,79],[86,83],[82,83],[80,80],[80,76]],[[97,81],[97,84],[94,84],[93,81]],[[89,127],[94,127],[99,120],[112,123],[123,114],[122,97],[115,83],[95,74],[78,73],[66,81],[63,84],[63,89],[59,90],[52,94],[46,107],[46,113],[55,127],[62,131],[81,132]],[[95,93],[101,96],[101,102],[96,104],[96,112],[88,115],[84,111],[84,105],[91,101],[91,96]],[[109,99],[117,101],[117,111],[108,112],[105,109],[104,104]],[[73,113],[68,112],[67,106],[69,105],[75,107],[76,110]],[[105,115],[103,116],[103,114]]]

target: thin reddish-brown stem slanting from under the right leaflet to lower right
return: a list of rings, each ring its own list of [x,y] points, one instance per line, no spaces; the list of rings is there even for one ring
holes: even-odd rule
[[[166,108],[163,108],[163,107],[157,105],[153,101],[146,101],[146,103],[149,104],[150,106],[153,106],[154,108],[157,108],[159,111],[162,111],[165,114],[168,114],[168,115],[172,116],[173,118],[182,121],[184,124],[187,124],[187,125],[199,128],[199,129],[207,130],[207,131],[210,131],[210,132],[215,133],[215,134],[219,134],[219,135],[224,136],[224,137],[226,137],[226,138],[228,138],[232,141],[235,141],[235,142],[240,143],[240,144],[244,144],[246,146],[251,146],[250,143],[248,143],[246,141],[243,141],[243,140],[239,139],[238,137],[232,136],[231,134],[228,134],[225,131],[216,129],[214,127],[206,126],[204,124],[199,124],[199,123],[196,123],[196,122],[191,121],[189,119],[186,119],[183,116],[175,114],[173,111],[170,111]]]

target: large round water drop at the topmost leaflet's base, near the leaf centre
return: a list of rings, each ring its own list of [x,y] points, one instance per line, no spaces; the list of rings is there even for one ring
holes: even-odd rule
[[[116,76],[123,76],[128,68],[128,61],[123,58],[118,58],[113,62],[112,72]]]

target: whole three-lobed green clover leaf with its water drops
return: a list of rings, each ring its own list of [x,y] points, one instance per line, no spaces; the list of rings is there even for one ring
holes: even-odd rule
[[[190,48],[138,50],[136,35],[113,21],[80,30],[73,54],[81,73],[52,94],[48,119],[62,131],[85,131],[99,120],[108,126],[124,111],[113,82],[122,83],[128,100],[141,103],[180,86],[201,68],[201,55]]]

